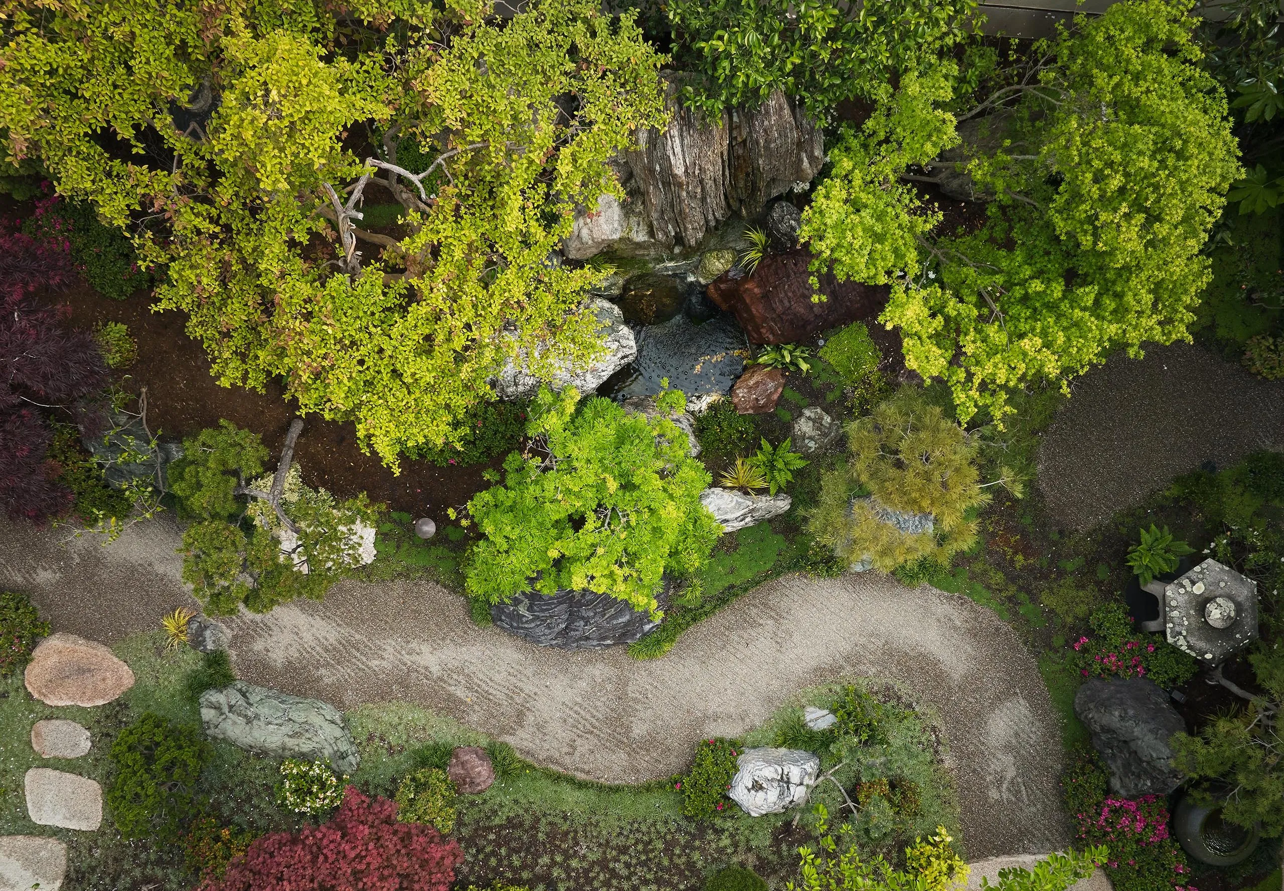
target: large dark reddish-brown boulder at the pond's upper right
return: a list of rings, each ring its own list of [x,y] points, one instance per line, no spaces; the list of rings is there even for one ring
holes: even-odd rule
[[[707,288],[719,309],[732,313],[751,344],[797,344],[840,324],[871,318],[887,303],[887,287],[820,276],[826,300],[811,303],[811,255],[805,250],[769,254],[746,276],[733,268]]]

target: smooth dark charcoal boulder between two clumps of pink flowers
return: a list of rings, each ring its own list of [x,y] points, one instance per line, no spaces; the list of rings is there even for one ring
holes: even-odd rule
[[[1111,770],[1115,795],[1167,795],[1181,782],[1168,741],[1186,724],[1150,681],[1090,678],[1075,694],[1075,714]]]

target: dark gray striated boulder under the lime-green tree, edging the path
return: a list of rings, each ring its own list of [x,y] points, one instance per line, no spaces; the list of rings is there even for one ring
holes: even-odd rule
[[[666,594],[657,597],[664,605]],[[660,623],[609,594],[561,590],[555,595],[524,592],[490,606],[496,627],[539,646],[592,650],[632,644]]]

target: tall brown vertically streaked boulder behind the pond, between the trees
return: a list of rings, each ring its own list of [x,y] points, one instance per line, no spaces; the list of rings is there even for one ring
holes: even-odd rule
[[[639,131],[637,149],[614,162],[625,200],[603,196],[583,210],[562,244],[566,256],[693,249],[732,215],[754,217],[820,172],[820,128],[783,92],[710,119],[682,103],[684,74],[666,72],[665,82],[668,126]]]

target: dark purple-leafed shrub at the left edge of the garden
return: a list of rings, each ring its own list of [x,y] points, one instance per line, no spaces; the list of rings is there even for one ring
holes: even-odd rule
[[[94,338],[65,328],[65,313],[35,296],[65,288],[74,276],[64,241],[0,224],[0,509],[14,519],[42,523],[72,503],[48,460],[53,431],[36,409],[72,410],[107,382]]]

